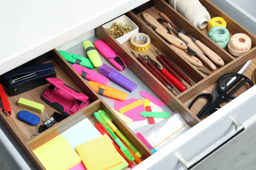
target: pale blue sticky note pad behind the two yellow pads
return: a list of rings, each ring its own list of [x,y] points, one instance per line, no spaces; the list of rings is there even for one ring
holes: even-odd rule
[[[74,150],[76,146],[102,136],[88,118],[70,127],[60,135],[65,137]]]

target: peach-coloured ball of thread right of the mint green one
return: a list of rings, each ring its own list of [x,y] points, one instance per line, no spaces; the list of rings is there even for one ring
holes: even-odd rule
[[[244,33],[236,33],[232,35],[228,42],[228,52],[232,56],[238,57],[251,49],[251,39]]]

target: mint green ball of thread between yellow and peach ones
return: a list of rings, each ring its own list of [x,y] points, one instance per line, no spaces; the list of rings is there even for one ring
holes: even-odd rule
[[[207,36],[216,42],[221,48],[225,48],[228,45],[228,41],[230,39],[230,34],[228,29],[222,26],[212,27]]]

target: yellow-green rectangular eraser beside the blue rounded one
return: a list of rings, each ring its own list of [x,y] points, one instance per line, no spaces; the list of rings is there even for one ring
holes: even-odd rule
[[[36,103],[35,101],[30,101],[28,99],[24,99],[22,97],[20,97],[20,99],[18,100],[18,105],[20,107],[24,107],[26,109],[34,110],[34,111],[40,112],[40,113],[42,113],[43,110],[45,110],[45,105]]]

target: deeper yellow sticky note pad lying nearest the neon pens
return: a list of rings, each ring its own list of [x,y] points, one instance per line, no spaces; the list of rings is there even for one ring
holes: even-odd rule
[[[110,169],[123,163],[108,135],[80,144],[75,147],[75,150],[82,158],[87,170]]]

